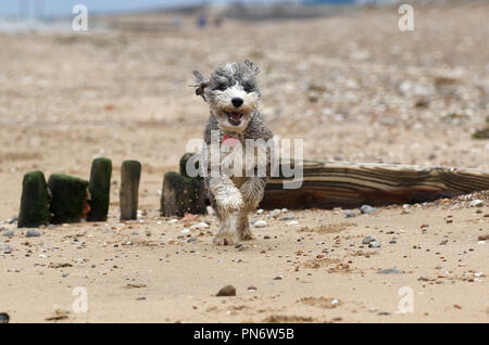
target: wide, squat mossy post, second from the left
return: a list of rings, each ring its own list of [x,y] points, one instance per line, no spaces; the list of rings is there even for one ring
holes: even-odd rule
[[[89,195],[88,181],[64,174],[49,177],[48,187],[52,193],[50,213],[52,223],[78,222],[86,209]]]

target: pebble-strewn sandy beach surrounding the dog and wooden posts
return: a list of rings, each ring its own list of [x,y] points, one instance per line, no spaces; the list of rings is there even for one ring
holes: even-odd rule
[[[478,240],[489,234],[488,194],[353,218],[264,212],[252,219],[268,226],[240,247],[212,243],[212,216],[173,221],[158,210],[164,173],[208,117],[191,71],[246,58],[261,67],[271,127],[304,138],[306,158],[489,169],[489,142],[471,139],[488,116],[488,11],[418,9],[412,33],[385,9],[204,30],[1,34],[0,243],[12,251],[0,253],[0,311],[12,322],[57,310],[67,322],[488,322],[489,242]],[[100,155],[114,163],[108,223],[26,238],[3,222],[18,213],[25,173],[88,178]],[[122,225],[118,167],[128,158],[143,166],[141,217]],[[482,206],[469,207],[473,199]],[[290,213],[297,225],[280,220]],[[210,227],[181,233],[201,221]],[[381,247],[363,245],[367,235]],[[402,273],[377,273],[389,268]],[[215,297],[227,284],[237,296]],[[87,289],[88,312],[73,311],[75,286]],[[403,286],[414,312],[399,312]]]

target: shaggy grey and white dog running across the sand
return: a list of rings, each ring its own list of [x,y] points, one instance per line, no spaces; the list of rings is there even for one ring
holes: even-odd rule
[[[209,79],[198,71],[193,72],[197,81],[196,93],[204,99],[211,110],[204,131],[209,171],[211,166],[223,165],[226,159],[228,162],[236,159],[237,155],[242,161],[248,159],[249,156],[244,157],[242,150],[236,150],[236,144],[247,148],[250,140],[272,142],[272,131],[258,108],[260,102],[258,74],[259,68],[250,61],[225,63],[215,69]],[[212,138],[217,135],[216,142]],[[231,144],[226,144],[228,141]],[[213,155],[212,152],[215,153],[215,150],[220,155]],[[246,154],[250,153],[248,148],[244,151]],[[250,166],[243,164],[242,171],[239,171],[242,174],[205,176],[209,199],[220,220],[215,243],[231,245],[252,238],[248,215],[256,209],[263,199],[266,178],[269,176],[269,146],[266,148],[265,158],[259,157],[256,151],[252,150],[254,174],[249,174]],[[256,174],[256,165],[260,164],[266,165],[265,175]]]

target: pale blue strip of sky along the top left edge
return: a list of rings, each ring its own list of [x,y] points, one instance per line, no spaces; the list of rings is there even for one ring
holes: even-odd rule
[[[213,0],[215,3],[233,2],[236,0]],[[277,0],[267,0],[275,2]],[[174,5],[198,4],[211,2],[205,0],[0,0],[0,16],[16,16],[26,13],[29,8],[29,15],[36,12],[36,8],[43,8],[47,16],[68,16],[75,4],[85,4],[89,12],[110,13],[128,12],[136,10],[163,9]],[[241,0],[241,2],[256,2],[256,0]],[[261,0],[261,2],[266,2]],[[24,10],[21,10],[24,9]]]

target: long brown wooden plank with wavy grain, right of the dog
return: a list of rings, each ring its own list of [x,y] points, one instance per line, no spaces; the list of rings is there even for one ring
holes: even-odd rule
[[[304,161],[302,187],[284,189],[290,178],[271,178],[262,208],[333,208],[429,202],[489,190],[489,171],[396,164]],[[283,168],[280,167],[280,171]]]

